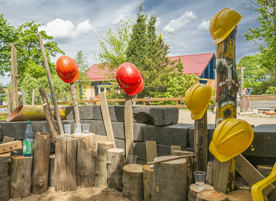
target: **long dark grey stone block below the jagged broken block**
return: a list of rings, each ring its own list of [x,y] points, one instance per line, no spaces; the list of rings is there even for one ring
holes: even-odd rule
[[[160,145],[189,147],[189,129],[194,124],[177,123],[169,126],[144,126],[144,142],[156,141]]]

